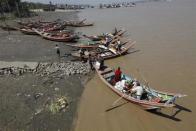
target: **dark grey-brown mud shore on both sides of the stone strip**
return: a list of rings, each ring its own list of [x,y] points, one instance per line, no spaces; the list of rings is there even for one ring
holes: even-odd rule
[[[42,12],[39,16],[26,20],[53,21],[59,18],[78,20],[77,12]],[[12,21],[8,23],[14,24]],[[56,44],[59,45],[62,55],[69,54],[72,50],[64,43],[24,35],[18,31],[9,34],[0,30],[0,39],[0,61],[53,63],[59,62],[54,49]],[[67,62],[71,59],[61,57],[60,61]],[[1,66],[5,66],[5,63],[0,62]],[[61,77],[52,78],[28,72],[22,75],[1,75],[0,131],[71,130],[84,83],[88,81],[90,75],[92,74],[83,76],[65,73]],[[52,112],[48,107],[62,97],[66,98],[68,106],[63,111]]]

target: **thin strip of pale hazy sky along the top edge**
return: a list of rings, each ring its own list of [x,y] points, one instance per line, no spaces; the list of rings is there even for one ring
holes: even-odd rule
[[[41,2],[41,3],[63,3],[63,4],[100,4],[100,3],[113,3],[113,2],[124,2],[133,0],[22,0],[30,2]]]

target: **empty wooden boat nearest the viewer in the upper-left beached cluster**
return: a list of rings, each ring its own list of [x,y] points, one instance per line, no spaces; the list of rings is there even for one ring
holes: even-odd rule
[[[70,42],[76,40],[77,38],[75,35],[70,35],[70,34],[58,34],[58,33],[52,34],[44,31],[38,31],[37,29],[34,28],[33,30],[44,39],[51,40],[51,41]]]

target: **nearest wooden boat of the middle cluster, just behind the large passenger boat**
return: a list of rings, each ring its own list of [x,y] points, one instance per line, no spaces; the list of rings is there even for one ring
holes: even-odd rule
[[[124,44],[121,48],[121,51],[116,51],[115,48],[113,47],[105,47],[103,45],[99,45],[98,48],[96,48],[96,50],[92,50],[92,51],[85,51],[84,52],[84,56],[83,58],[84,59],[88,59],[89,57],[89,54],[91,54],[92,56],[96,55],[96,54],[100,54],[104,60],[106,59],[111,59],[111,58],[115,58],[115,57],[119,57],[119,56],[122,56],[122,55],[125,55],[127,53],[127,51],[133,47],[135,44],[135,41],[134,42],[128,42],[126,44]],[[71,53],[72,56],[74,57],[78,57],[80,58],[80,52],[73,52]]]

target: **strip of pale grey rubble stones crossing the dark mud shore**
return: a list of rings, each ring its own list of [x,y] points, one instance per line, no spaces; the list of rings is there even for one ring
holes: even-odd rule
[[[21,76],[24,73],[34,73],[39,76],[49,76],[51,74],[58,73],[59,76],[70,76],[75,74],[86,75],[90,72],[88,63],[77,62],[53,62],[53,63],[37,63],[37,66],[31,68],[28,64],[23,67],[17,65],[11,65],[8,67],[0,68],[1,75],[14,75]]]

